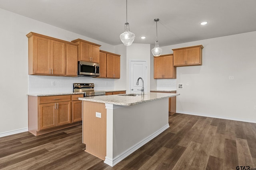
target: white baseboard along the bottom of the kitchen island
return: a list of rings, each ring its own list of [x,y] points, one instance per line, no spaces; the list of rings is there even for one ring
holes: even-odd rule
[[[121,154],[119,154],[118,156],[116,156],[115,158],[111,159],[108,158],[106,156],[104,163],[108,164],[110,166],[115,166],[116,164],[118,164],[119,162],[121,162],[124,158],[126,158],[127,156],[129,156],[130,154],[132,154],[134,151],[138,150],[140,147],[142,147],[143,145],[145,145],[146,143],[148,143],[149,141],[151,141],[152,139],[154,139],[156,136],[160,135],[160,133],[162,133],[163,131],[165,131],[166,129],[168,129],[169,123],[167,125],[165,125],[164,127],[162,127],[161,129],[159,129],[158,131],[152,133],[151,135],[149,135],[148,137],[142,139],[142,141],[136,143],[135,145],[133,145],[132,147],[130,147],[129,149],[125,150],[124,152],[122,152]]]

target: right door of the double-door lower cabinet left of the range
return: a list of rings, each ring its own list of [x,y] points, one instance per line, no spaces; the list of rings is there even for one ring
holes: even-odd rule
[[[56,110],[56,126],[71,123],[70,102],[58,102]]]

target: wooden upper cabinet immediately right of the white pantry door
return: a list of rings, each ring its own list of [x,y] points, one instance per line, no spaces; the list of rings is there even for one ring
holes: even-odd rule
[[[154,57],[154,78],[176,78],[176,67],[173,66],[173,55]]]

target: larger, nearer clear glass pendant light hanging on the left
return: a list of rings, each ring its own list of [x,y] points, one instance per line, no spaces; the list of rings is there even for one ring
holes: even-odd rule
[[[135,34],[130,32],[129,23],[127,22],[127,0],[126,0],[126,23],[124,23],[124,33],[120,34],[120,39],[125,46],[132,45]]]

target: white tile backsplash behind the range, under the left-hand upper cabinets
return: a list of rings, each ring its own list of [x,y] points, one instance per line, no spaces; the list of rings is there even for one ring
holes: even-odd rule
[[[72,92],[73,83],[94,83],[94,90],[114,90],[114,79],[28,75],[28,93]]]

